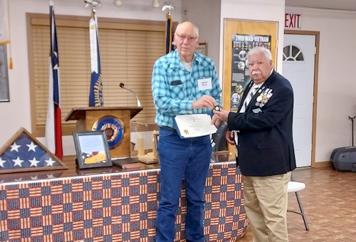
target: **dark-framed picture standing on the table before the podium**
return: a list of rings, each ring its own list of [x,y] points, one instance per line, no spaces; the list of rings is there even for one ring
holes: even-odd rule
[[[112,167],[104,130],[74,132],[73,137],[79,169]]]

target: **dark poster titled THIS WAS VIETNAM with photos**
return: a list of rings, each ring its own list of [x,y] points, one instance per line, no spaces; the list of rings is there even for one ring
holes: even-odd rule
[[[257,34],[232,34],[231,55],[231,105],[230,110],[238,110],[244,87],[250,80],[247,53],[251,48],[262,46],[271,51],[271,36]]]

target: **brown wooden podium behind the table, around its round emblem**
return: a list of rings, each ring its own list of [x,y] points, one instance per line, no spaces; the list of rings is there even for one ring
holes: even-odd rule
[[[65,120],[77,120],[76,131],[93,130],[93,126],[105,116],[113,116],[123,123],[120,144],[110,147],[112,159],[130,157],[130,120],[142,110],[142,107],[74,107]]]

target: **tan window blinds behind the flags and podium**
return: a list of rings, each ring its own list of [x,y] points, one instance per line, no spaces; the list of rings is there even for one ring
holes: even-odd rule
[[[46,125],[48,103],[48,55],[50,28],[45,20],[31,21],[31,46],[34,88],[31,88],[31,105],[36,110],[37,135]],[[58,22],[58,21],[57,21]],[[60,21],[61,22],[61,21]],[[48,23],[48,20],[46,21]],[[90,90],[90,42],[89,23],[85,21],[63,21],[57,24],[58,56],[60,68],[60,95],[63,135],[75,130],[75,121],[64,121],[73,107],[88,107]],[[104,106],[136,106],[134,95],[120,88],[137,93],[143,110],[132,120],[153,123],[155,107],[152,100],[152,68],[164,55],[164,26],[137,23],[103,23],[99,27],[99,51],[103,78]],[[30,58],[31,61],[31,58]],[[32,115],[34,113],[32,112]]]

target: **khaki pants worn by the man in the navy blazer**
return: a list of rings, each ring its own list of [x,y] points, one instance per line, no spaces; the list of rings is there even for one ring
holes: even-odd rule
[[[290,172],[268,177],[244,177],[246,216],[253,242],[288,242],[287,206]]]

